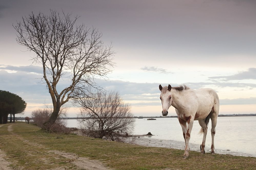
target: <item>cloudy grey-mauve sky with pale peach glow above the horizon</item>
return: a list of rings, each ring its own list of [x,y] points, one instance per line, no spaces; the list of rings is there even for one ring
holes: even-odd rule
[[[108,80],[135,116],[161,116],[159,84],[212,88],[220,114],[256,113],[256,1],[252,0],[0,0],[0,89],[27,102],[24,115],[51,105],[42,66],[16,42],[22,16],[50,9],[79,16],[112,43],[115,67]],[[63,84],[64,87],[64,84]],[[79,108],[67,103],[68,117]],[[176,115],[171,106],[169,115]]]

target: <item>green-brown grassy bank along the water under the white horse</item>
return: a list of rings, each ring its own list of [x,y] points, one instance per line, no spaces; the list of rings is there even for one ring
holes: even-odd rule
[[[9,127],[8,126],[12,125]],[[51,150],[74,153],[100,160],[112,169],[255,169],[255,157],[219,155],[183,150],[144,147],[77,135],[48,134],[23,122],[0,127],[0,149],[7,154],[11,168],[79,169],[72,159]],[[81,168],[80,168],[81,169]]]

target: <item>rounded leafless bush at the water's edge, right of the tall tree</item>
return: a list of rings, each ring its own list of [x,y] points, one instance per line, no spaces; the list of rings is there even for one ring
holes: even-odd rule
[[[83,132],[87,136],[118,141],[134,128],[135,119],[130,113],[130,106],[117,92],[99,92],[76,102],[81,106],[78,117],[83,118]]]

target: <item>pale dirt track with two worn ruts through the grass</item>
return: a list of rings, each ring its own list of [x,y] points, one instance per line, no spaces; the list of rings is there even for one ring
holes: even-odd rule
[[[8,132],[11,133],[12,135],[14,135],[16,138],[20,139],[21,141],[26,142],[28,145],[32,145],[33,147],[37,147],[40,149],[45,149],[48,153],[71,159],[72,164],[74,164],[77,167],[82,168],[82,169],[88,169],[88,170],[97,170],[97,169],[98,170],[107,170],[107,169],[109,169],[106,166],[104,166],[103,163],[101,163],[100,161],[90,160],[86,157],[79,157],[74,153],[66,153],[66,152],[58,151],[58,150],[49,150],[48,148],[46,148],[43,145],[25,140],[21,136],[12,132],[13,125],[14,124],[8,125],[8,129],[7,129]],[[1,125],[1,126],[3,126],[3,125]],[[1,128],[1,126],[0,126],[0,128]],[[0,150],[0,165],[1,165],[0,170],[9,170],[10,169],[9,167],[7,167],[10,163],[3,158],[5,156],[6,156],[6,154]]]

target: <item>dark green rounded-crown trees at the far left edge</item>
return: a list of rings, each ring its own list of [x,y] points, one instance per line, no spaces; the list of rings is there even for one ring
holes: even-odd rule
[[[18,95],[0,90],[0,124],[6,124],[8,114],[10,122],[15,122],[15,114],[25,111],[27,103]]]

